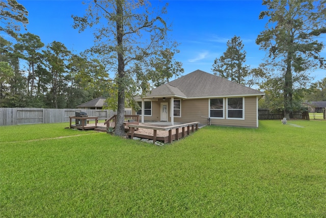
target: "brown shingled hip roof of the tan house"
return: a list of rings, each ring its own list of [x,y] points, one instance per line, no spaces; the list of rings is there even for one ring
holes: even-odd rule
[[[151,90],[146,98],[162,98],[174,96],[184,99],[213,98],[222,96],[255,96],[264,92],[224,78],[196,70]]]

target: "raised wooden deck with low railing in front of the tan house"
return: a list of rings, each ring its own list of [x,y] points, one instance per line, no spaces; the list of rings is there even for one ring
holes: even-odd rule
[[[195,132],[198,130],[199,122],[187,123],[187,124],[179,124],[173,126],[159,127],[157,125],[150,126],[146,124],[142,125],[132,125],[129,124],[129,132],[127,132],[127,136],[129,138],[139,137],[153,140],[153,143],[156,141],[161,141],[163,143],[171,143],[174,140],[179,140],[190,134],[190,132]],[[139,131],[135,131],[135,129],[139,129]],[[153,134],[144,134],[142,129],[153,130]],[[168,134],[165,136],[157,136],[157,131],[166,131]]]

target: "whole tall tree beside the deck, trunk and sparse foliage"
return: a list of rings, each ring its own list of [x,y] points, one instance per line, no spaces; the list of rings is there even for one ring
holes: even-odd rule
[[[151,58],[171,46],[166,40],[169,27],[162,17],[166,13],[166,7],[156,10],[147,1],[95,0],[83,17],[73,16],[79,31],[96,28],[91,52],[115,72],[117,135],[124,134],[126,97],[149,90]]]

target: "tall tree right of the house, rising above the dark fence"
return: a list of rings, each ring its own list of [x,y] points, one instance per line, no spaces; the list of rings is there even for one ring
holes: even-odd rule
[[[256,43],[267,51],[266,58],[280,72],[277,77],[282,79],[282,102],[285,116],[289,118],[296,105],[295,82],[300,85],[307,79],[308,70],[325,67],[324,58],[320,56],[323,43],[318,41],[318,36],[326,33],[325,1],[264,0],[263,5],[267,10],[262,11],[259,18],[266,17],[268,21]]]

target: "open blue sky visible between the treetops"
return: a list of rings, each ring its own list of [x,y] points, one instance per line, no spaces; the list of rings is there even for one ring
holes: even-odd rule
[[[29,11],[28,32],[40,36],[43,43],[60,41],[75,52],[82,52],[93,45],[92,30],[78,33],[72,28],[71,15],[84,15],[86,5],[82,1],[34,1],[18,0]],[[226,51],[226,43],[239,36],[247,52],[246,64],[257,67],[265,56],[255,43],[264,30],[267,19],[259,20],[265,10],[262,1],[161,1],[169,3],[167,22],[172,23],[171,38],[180,45],[176,60],[182,62],[184,74],[196,69],[211,72],[215,58]],[[323,41],[326,42],[325,39]],[[325,50],[321,54],[326,56]],[[316,70],[311,76],[320,80],[325,70]]]

